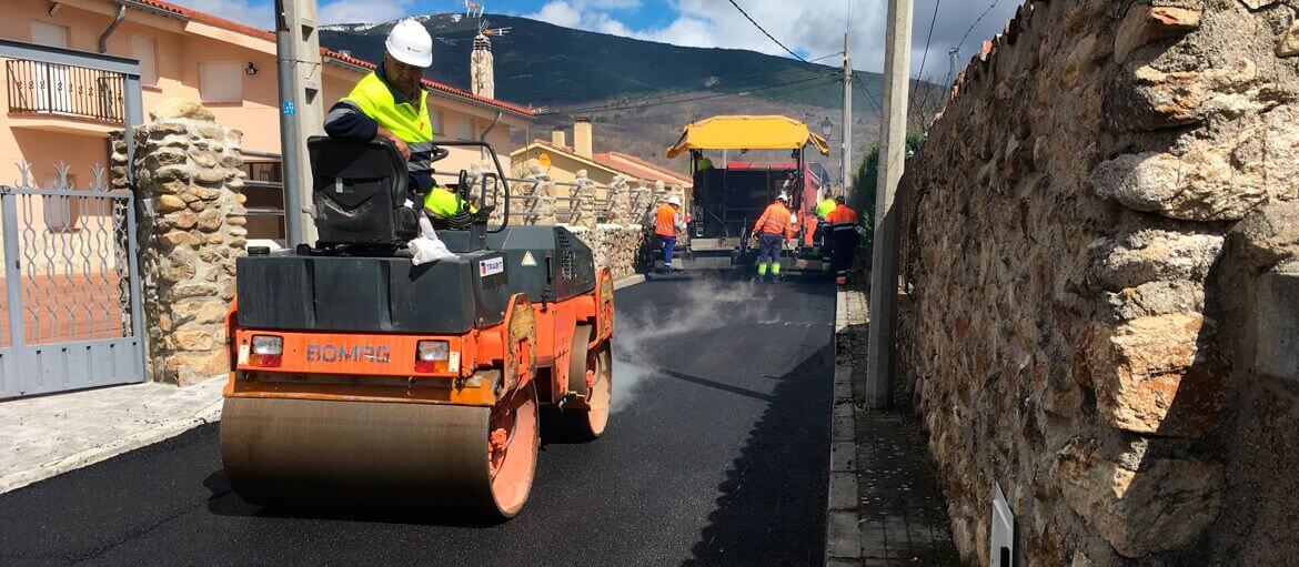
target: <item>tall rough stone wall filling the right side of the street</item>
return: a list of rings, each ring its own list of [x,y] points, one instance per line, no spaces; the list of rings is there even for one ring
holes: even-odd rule
[[[900,370],[987,564],[1299,555],[1296,0],[1030,1],[900,193]]]

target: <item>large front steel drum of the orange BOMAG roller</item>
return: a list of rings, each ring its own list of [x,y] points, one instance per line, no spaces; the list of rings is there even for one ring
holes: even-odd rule
[[[221,419],[230,484],[260,505],[511,518],[539,445],[531,384],[496,407],[230,397]]]

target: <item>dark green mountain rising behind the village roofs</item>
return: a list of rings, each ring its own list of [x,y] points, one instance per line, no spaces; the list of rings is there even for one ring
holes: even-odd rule
[[[516,141],[548,138],[552,126],[569,125],[574,114],[590,115],[596,122],[596,151],[626,152],[683,170],[685,160],[666,161],[662,148],[675,141],[687,122],[713,114],[770,113],[801,119],[814,131],[826,130],[822,123],[829,121],[827,130],[835,132],[831,144],[838,144],[843,83],[831,77],[838,66],[644,42],[511,16],[487,18],[492,27],[509,29],[492,38],[496,97],[546,109],[535,131],[522,132]],[[460,14],[416,19],[434,36],[434,62],[426,77],[469,90],[469,52],[478,21]],[[383,39],[394,25],[325,26],[321,44],[381,61]],[[857,71],[856,77],[876,101],[882,99],[879,74]],[[853,145],[860,156],[878,119],[870,97],[861,88],[852,91]],[[838,152],[822,163],[837,171]]]

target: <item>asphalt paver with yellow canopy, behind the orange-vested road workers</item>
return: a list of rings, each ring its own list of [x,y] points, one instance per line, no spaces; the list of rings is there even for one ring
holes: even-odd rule
[[[829,154],[825,139],[807,125],[781,115],[717,115],[687,125],[668,157],[690,156],[694,171],[691,219],[687,237],[678,240],[678,256],[686,270],[748,267],[756,258],[751,248],[753,223],[777,195],[790,196],[798,218],[798,234],[786,244],[782,267],[820,269],[820,253],[812,235],[816,202],[825,184],[825,169],[809,162],[805,148]],[[788,151],[783,162],[733,161],[716,165],[705,151]],[[720,160],[718,160],[720,161]],[[642,247],[642,263],[652,269],[662,252],[652,234]]]

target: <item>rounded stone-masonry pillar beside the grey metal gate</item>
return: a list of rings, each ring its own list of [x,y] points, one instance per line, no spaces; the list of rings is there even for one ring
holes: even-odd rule
[[[135,191],[152,201],[142,218],[143,300],[148,372],[155,381],[192,384],[230,368],[223,318],[243,254],[246,197],[239,134],[196,103],[164,101],[135,128]],[[125,174],[125,144],[114,152]]]

